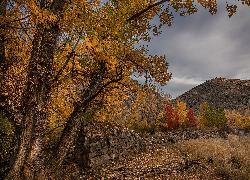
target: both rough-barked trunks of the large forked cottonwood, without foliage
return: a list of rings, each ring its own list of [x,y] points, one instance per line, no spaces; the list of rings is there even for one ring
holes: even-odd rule
[[[41,2],[41,4],[43,4]],[[54,0],[49,8],[53,13],[63,9],[64,0]],[[49,29],[37,26],[33,37],[32,53],[29,62],[27,81],[22,99],[19,119],[15,120],[15,150],[10,160],[10,171],[6,180],[19,179],[48,179],[64,161],[72,148],[80,122],[89,103],[103,89],[103,78],[107,69],[100,64],[100,69],[93,75],[88,89],[75,103],[75,109],[63,130],[57,148],[49,160],[44,155],[44,123],[46,121],[46,108],[49,101],[50,87],[53,83],[53,55],[56,42],[59,38],[59,27],[53,24]]]

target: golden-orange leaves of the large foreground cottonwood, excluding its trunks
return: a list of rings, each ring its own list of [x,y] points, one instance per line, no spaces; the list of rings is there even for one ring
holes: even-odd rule
[[[43,30],[53,25],[58,25],[60,37],[57,40],[55,54],[53,57],[53,70],[56,75],[62,68],[60,80],[62,84],[58,88],[58,94],[54,94],[51,102],[51,108],[59,111],[60,118],[64,121],[72,111],[72,102],[79,98],[77,86],[82,85],[80,91],[84,93],[85,86],[89,85],[93,75],[100,69],[100,64],[105,64],[105,76],[102,84],[109,83],[122,77],[120,81],[123,84],[129,84],[131,89],[138,88],[129,82],[129,78],[133,73],[144,76],[147,72],[147,78],[151,81],[165,85],[171,78],[172,74],[168,72],[168,63],[166,58],[162,56],[148,56],[148,50],[145,48],[135,48],[135,42],[140,40],[150,41],[149,32],[154,35],[160,34],[162,24],[171,26],[173,21],[170,7],[176,11],[183,10],[182,15],[192,14],[197,11],[192,0],[172,0],[168,3],[167,9],[161,11],[162,6],[157,5],[148,9],[137,18],[128,22],[127,20],[133,15],[140,13],[150,7],[155,0],[122,0],[109,1],[105,5],[100,6],[100,0],[91,1],[68,1],[64,6],[62,13],[53,14],[49,9],[40,8],[40,4],[35,0],[15,1],[12,9],[7,12],[7,18],[1,18],[0,23],[8,24],[13,21],[13,25],[18,30],[9,28],[7,31],[1,32],[6,35],[6,39],[15,39],[6,43],[6,57],[10,62],[14,62],[9,69],[10,78],[6,81],[6,85],[16,89],[16,95],[22,94],[22,83],[27,75],[27,65],[29,64],[30,54],[32,50],[32,40],[35,33],[43,33]],[[215,14],[216,1],[198,0],[203,7],[209,8],[211,14]],[[248,1],[244,1],[248,3]],[[228,7],[228,11],[234,12],[235,6]],[[236,8],[235,8],[236,9]],[[18,19],[25,20],[20,22]],[[151,20],[160,14],[160,26],[151,25]],[[15,21],[15,22],[14,22]],[[39,34],[41,35],[41,34]],[[38,44],[42,41],[42,36],[38,40]],[[17,40],[16,40],[17,39]],[[51,60],[52,61],[52,60]],[[18,85],[19,77],[22,83]],[[11,82],[15,79],[16,82]],[[121,112],[120,108],[123,99],[127,98],[127,87],[123,87],[118,83],[110,84],[107,90],[96,97],[96,101],[104,101],[108,108],[112,109],[112,113]],[[56,89],[56,88],[55,88]],[[119,89],[119,90],[118,90]],[[8,93],[9,92],[4,92]],[[105,98],[102,98],[105,95]],[[145,92],[138,93],[138,98],[145,96]],[[14,97],[14,96],[13,96]],[[67,99],[67,98],[69,99]],[[156,97],[151,96],[152,99]],[[138,102],[146,103],[141,98]],[[14,100],[13,100],[14,102]],[[149,103],[149,102],[148,102]],[[180,107],[179,107],[180,106]],[[180,112],[183,111],[184,105],[178,105]],[[150,104],[147,108],[157,109],[155,104]],[[51,110],[52,119],[57,119],[57,113]],[[111,112],[111,110],[110,110]],[[100,112],[101,115],[105,114]],[[101,117],[100,115],[100,117]]]

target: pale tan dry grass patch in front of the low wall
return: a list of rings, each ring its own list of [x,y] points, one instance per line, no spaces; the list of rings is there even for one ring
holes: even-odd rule
[[[193,139],[171,146],[191,159],[201,159],[225,179],[250,179],[250,135],[228,139]]]

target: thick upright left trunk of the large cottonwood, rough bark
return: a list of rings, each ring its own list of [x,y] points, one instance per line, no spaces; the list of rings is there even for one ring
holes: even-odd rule
[[[42,3],[41,4],[45,4]],[[64,0],[54,0],[53,13],[60,13]],[[37,26],[33,37],[29,72],[22,98],[22,119],[15,121],[15,159],[10,160],[10,171],[6,180],[46,179],[44,171],[44,123],[53,78],[53,55],[59,38],[59,27]]]

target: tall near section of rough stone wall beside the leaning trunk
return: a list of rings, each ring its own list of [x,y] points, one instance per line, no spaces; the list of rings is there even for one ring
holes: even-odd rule
[[[81,167],[96,167],[109,160],[145,151],[146,141],[115,122],[84,123],[72,153]]]

